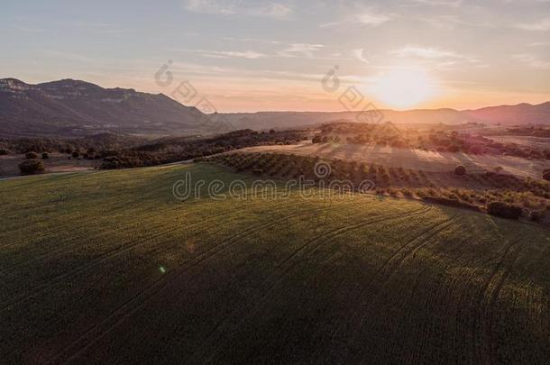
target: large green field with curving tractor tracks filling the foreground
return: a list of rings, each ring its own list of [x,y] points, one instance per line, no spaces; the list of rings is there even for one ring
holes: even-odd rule
[[[359,195],[180,202],[185,172],[243,178],[0,181],[0,362],[550,359],[544,228]]]

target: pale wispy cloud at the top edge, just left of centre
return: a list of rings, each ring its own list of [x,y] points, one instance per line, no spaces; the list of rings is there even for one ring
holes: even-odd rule
[[[281,3],[258,4],[244,0],[184,0],[184,9],[193,13],[218,15],[248,15],[274,19],[286,18],[292,12]]]

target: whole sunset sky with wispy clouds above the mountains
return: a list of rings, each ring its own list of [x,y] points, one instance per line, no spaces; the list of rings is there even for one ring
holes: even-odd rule
[[[550,0],[5,0],[0,45],[0,78],[218,112],[550,100]]]

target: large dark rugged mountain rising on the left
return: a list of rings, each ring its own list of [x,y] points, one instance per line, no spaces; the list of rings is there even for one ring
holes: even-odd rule
[[[0,79],[0,135],[201,132],[195,107],[168,96],[64,79],[38,85]]]

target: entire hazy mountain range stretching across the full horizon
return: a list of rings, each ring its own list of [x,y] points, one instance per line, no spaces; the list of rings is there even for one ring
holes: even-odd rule
[[[335,120],[365,121],[356,112],[259,112],[202,114],[162,94],[103,88],[65,79],[38,85],[0,79],[0,135],[196,134],[227,129],[300,128]],[[369,120],[367,116],[366,120]],[[372,121],[392,123],[550,124],[550,102],[502,105],[477,110],[380,110]]]

